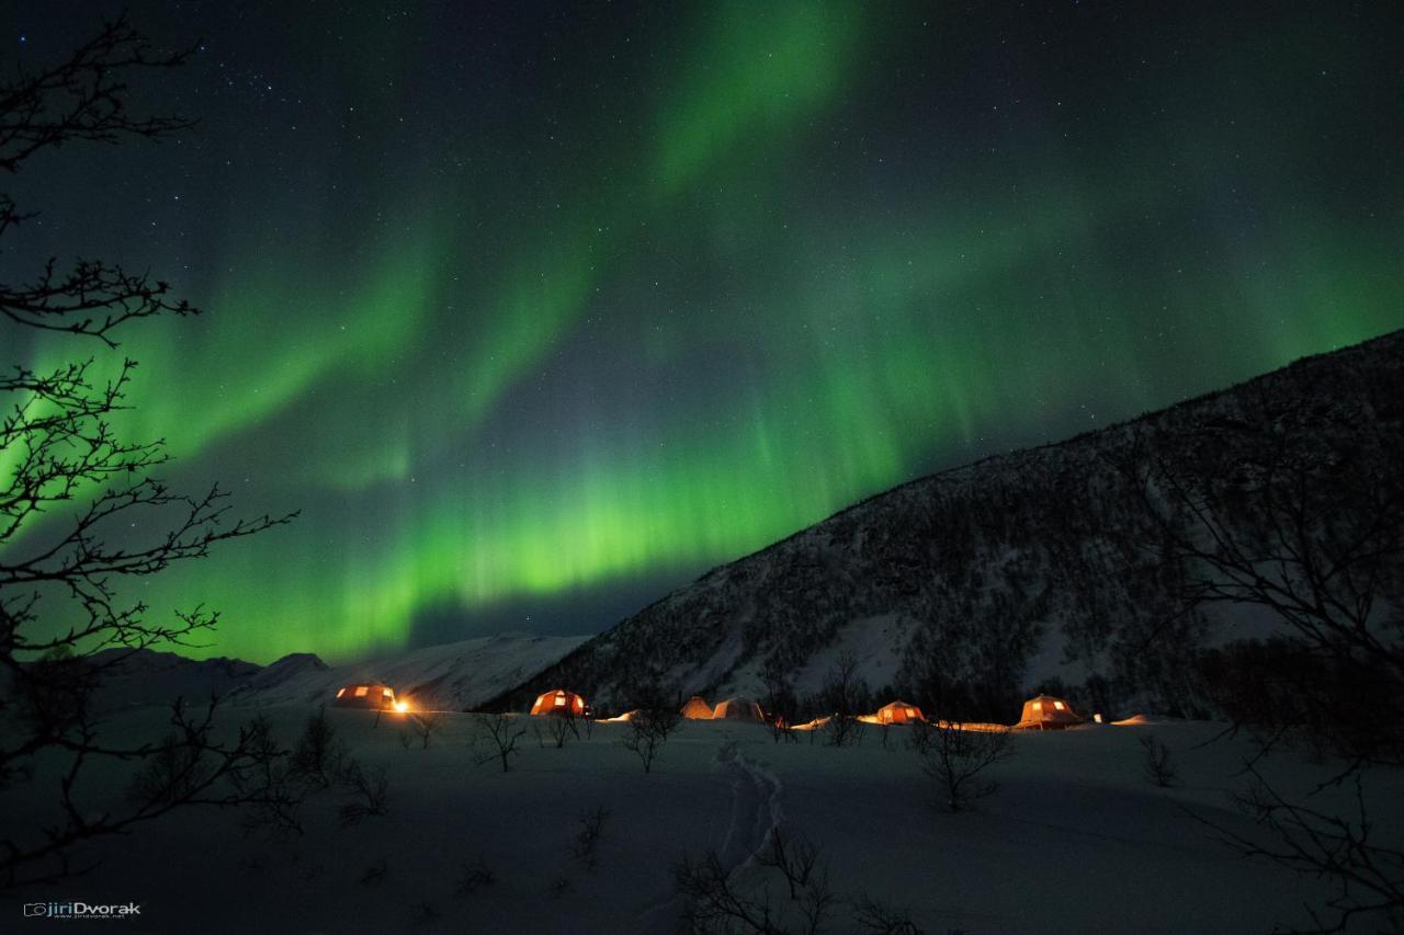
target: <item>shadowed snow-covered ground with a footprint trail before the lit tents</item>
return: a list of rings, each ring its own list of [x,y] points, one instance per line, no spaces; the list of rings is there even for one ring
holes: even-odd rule
[[[291,741],[312,709],[267,713]],[[423,751],[402,745],[390,717],[376,727],[371,712],[329,713],[362,764],[388,769],[386,816],[338,828],[344,796],[329,792],[307,809],[306,834],[278,844],[243,835],[233,814],[185,811],[104,845],[91,875],[21,901],[133,900],[139,921],[108,922],[128,932],[670,932],[674,862],[710,848],[739,884],[764,884],[774,872],[746,858],[781,817],[823,848],[840,896],[904,907],[927,932],[1271,932],[1304,922],[1302,901],[1320,894],[1313,880],[1238,858],[1186,814],[1251,827],[1224,797],[1251,748],[1196,748],[1214,724],[1018,734],[1015,757],[997,767],[1001,790],[977,811],[946,814],[901,748],[904,729],[892,729],[886,748],[869,729],[861,747],[835,750],[821,738],[775,745],[754,724],[688,722],[644,775],[619,744],[628,724],[598,724],[563,750],[528,733],[504,774],[475,762],[489,750],[486,736],[475,745],[482,731],[469,715],[446,715]],[[128,712],[114,727],[152,736],[163,719]],[[528,731],[539,723],[519,720]],[[1143,778],[1146,731],[1175,751],[1177,788]],[[731,740],[737,754],[720,758]],[[1320,769],[1294,755],[1268,764],[1296,788]],[[570,845],[580,816],[600,806],[609,817],[591,868]],[[1397,799],[1380,796],[1372,817],[1398,840]],[[479,859],[496,882],[456,894],[462,868]],[[382,862],[383,876],[366,879]],[[3,911],[13,918],[0,931],[55,925],[20,918],[18,906]],[[838,907],[826,931],[856,931],[849,910]]]

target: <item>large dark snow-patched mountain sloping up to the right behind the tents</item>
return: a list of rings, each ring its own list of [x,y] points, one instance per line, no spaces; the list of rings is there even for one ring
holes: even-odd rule
[[[1196,649],[1273,622],[1243,606],[1179,612],[1182,570],[1148,548],[1143,489],[1125,465],[1219,459],[1231,469],[1234,452],[1285,438],[1331,484],[1342,452],[1401,449],[1401,425],[1396,331],[875,496],[703,574],[491,705],[522,709],[564,685],[608,710],[650,681],[682,696],[760,694],[768,660],[803,694],[847,649],[878,691],[906,695],[935,658],[955,691],[987,709],[1059,679],[1097,709],[1202,710],[1189,678]]]

